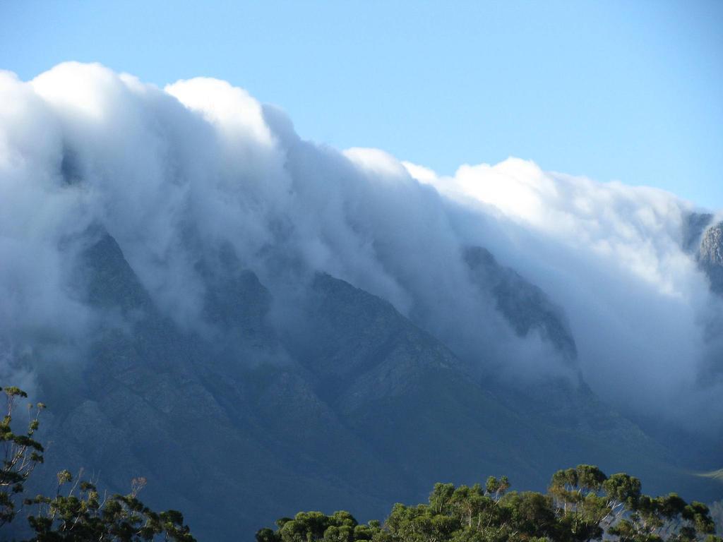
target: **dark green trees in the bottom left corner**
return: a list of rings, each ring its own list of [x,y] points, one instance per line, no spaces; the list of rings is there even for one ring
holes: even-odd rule
[[[33,435],[45,405],[30,405],[33,416],[27,431],[16,434],[12,429],[13,408],[17,399],[27,394],[17,387],[0,390],[7,396],[7,414],[0,422],[0,443],[4,448],[0,469],[0,528],[17,516],[20,502],[30,509],[27,522],[33,537],[28,542],[195,542],[181,512],[153,512],[140,502],[137,494],[145,486],[145,478],[134,478],[127,495],[100,496],[95,483],[80,477],[74,479],[69,470],[61,470],[57,474],[54,497],[24,497],[25,481],[35,465],[43,462],[43,446]]]

